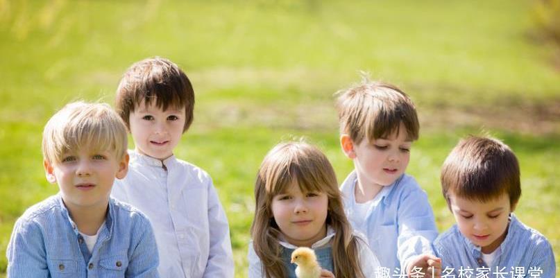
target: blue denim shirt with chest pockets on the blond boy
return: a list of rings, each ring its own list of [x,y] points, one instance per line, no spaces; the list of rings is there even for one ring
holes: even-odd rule
[[[6,257],[8,278],[159,277],[149,220],[112,199],[91,253],[58,194],[17,220]]]

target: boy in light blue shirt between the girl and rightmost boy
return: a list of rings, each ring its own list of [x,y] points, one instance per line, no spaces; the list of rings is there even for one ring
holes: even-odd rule
[[[405,174],[418,116],[393,85],[371,82],[339,92],[340,142],[355,171],[341,185],[350,223],[365,234],[382,268],[437,277],[432,207],[414,177]]]

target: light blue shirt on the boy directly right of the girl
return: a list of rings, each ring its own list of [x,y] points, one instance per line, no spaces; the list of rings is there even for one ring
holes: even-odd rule
[[[391,273],[406,270],[408,260],[418,254],[434,254],[432,242],[438,232],[427,195],[413,177],[402,174],[383,189],[366,212],[357,219],[355,186],[357,175],[350,173],[342,183],[344,211],[354,229],[362,232],[381,266]]]

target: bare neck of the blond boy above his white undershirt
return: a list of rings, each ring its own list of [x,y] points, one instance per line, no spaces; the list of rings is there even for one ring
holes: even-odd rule
[[[78,226],[78,230],[88,236],[94,236],[99,231],[99,227],[105,221],[107,215],[108,205],[100,207],[99,209],[92,209],[91,207],[74,207],[66,205],[70,217]]]

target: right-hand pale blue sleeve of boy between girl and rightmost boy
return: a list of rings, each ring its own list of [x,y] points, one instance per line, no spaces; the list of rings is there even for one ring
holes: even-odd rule
[[[413,181],[416,183],[416,181]],[[434,254],[432,242],[438,235],[434,212],[427,194],[416,184],[405,191],[398,207],[398,259],[401,270],[407,269],[411,257]]]

